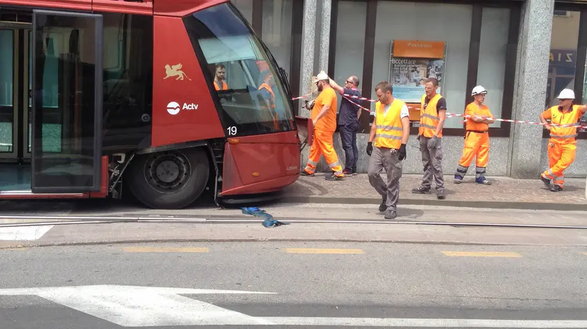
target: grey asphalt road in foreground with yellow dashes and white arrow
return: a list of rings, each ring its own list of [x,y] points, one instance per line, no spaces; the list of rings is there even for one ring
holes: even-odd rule
[[[0,323],[12,329],[586,328],[586,252],[337,242],[0,250]]]

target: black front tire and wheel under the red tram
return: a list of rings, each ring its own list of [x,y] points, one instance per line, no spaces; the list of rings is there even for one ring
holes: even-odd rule
[[[183,148],[137,155],[126,168],[124,183],[147,207],[180,209],[200,197],[209,175],[206,152]]]

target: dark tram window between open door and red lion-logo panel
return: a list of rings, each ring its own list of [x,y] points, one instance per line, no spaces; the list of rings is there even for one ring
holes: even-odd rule
[[[136,146],[151,131],[153,17],[102,15],[103,146]]]

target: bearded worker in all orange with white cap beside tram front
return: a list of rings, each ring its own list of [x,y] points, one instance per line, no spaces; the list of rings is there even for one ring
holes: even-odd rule
[[[312,123],[314,124],[314,142],[310,148],[307,165],[302,170],[301,175],[314,176],[320,156],[324,154],[328,167],[333,171],[331,176],[326,176],[326,180],[339,181],[345,177],[345,174],[342,174],[342,166],[338,162],[338,156],[334,151],[332,138],[336,130],[336,105],[338,104],[336,92],[330,86],[330,78],[326,72],[319,72],[316,77],[312,77],[312,80],[318,87],[320,94],[314,100],[314,106],[311,109]]]

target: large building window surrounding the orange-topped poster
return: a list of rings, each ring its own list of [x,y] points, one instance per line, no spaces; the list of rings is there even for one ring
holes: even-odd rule
[[[426,15],[426,20],[423,20],[425,13],[434,15]],[[458,17],[458,20],[454,17]],[[465,100],[468,99],[466,96],[470,95],[467,90],[467,75],[471,22],[470,5],[378,1],[372,86],[391,80],[389,67],[393,40],[441,41],[447,44],[447,52],[445,65],[442,66],[443,72],[435,73],[440,73],[444,79],[444,88],[440,93],[447,99],[449,112],[462,113]],[[416,86],[417,82],[412,80],[414,79],[405,81],[405,85]],[[377,97],[373,90],[363,93],[370,95],[372,99]],[[371,110],[375,110],[375,103],[372,103]],[[463,123],[461,120],[448,119],[444,128],[463,128]]]

